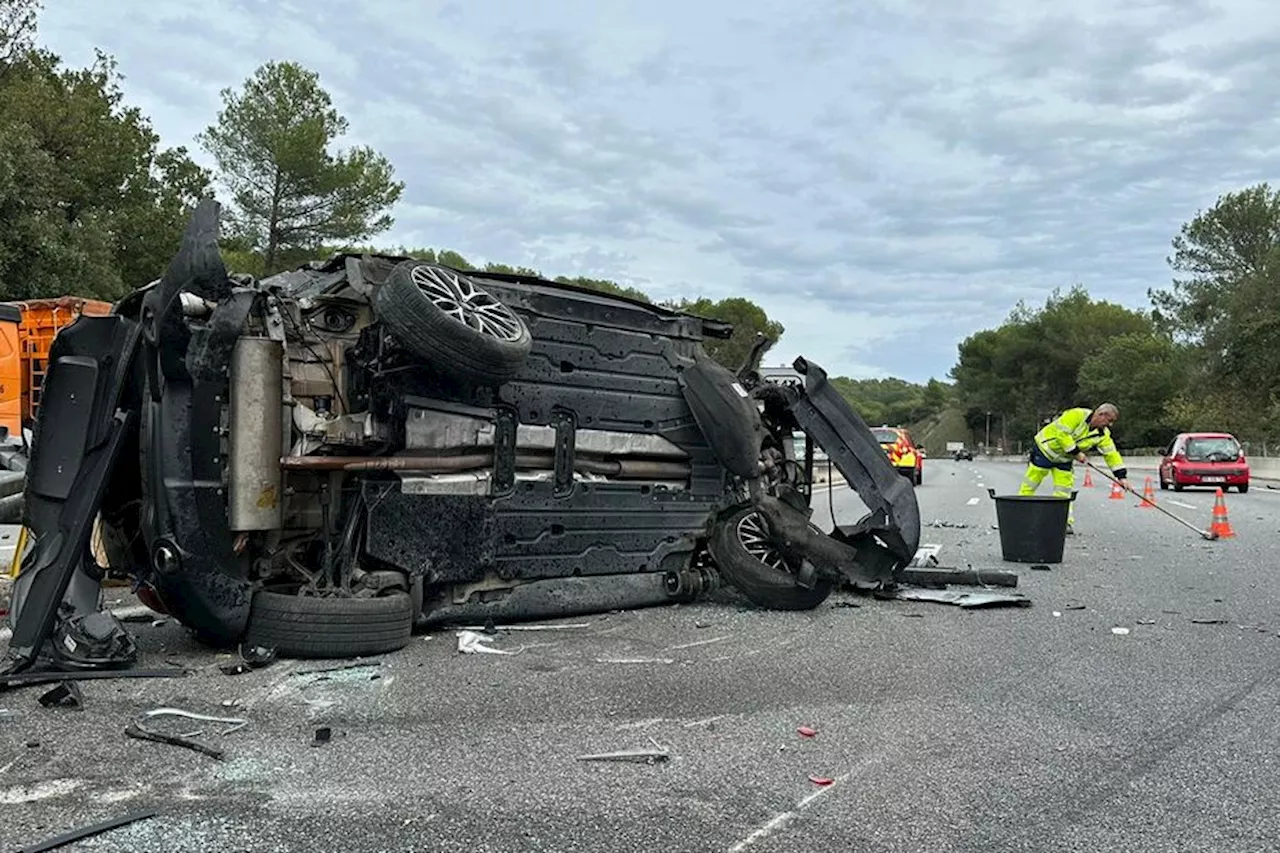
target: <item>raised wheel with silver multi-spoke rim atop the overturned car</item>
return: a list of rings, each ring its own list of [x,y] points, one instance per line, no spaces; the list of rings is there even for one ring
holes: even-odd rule
[[[372,305],[415,355],[480,384],[515,377],[532,348],[529,327],[515,311],[470,275],[439,264],[397,264],[374,291]]]

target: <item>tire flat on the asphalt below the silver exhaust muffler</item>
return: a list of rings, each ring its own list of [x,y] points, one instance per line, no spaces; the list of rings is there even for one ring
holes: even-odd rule
[[[360,657],[402,649],[412,631],[413,602],[407,593],[338,598],[260,589],[250,607],[244,644],[274,648],[280,657]]]

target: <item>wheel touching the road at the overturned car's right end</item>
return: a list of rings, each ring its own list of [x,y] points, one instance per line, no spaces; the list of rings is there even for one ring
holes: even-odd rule
[[[759,511],[742,506],[719,520],[707,543],[724,579],[754,605],[769,610],[813,610],[831,596],[832,583],[817,579],[812,589],[796,583],[767,542]],[[745,539],[745,540],[744,540]],[[762,560],[758,553],[762,553]]]

